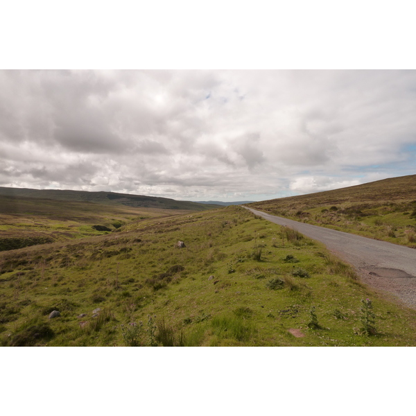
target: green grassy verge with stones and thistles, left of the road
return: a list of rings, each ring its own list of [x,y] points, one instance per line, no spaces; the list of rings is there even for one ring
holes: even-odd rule
[[[138,343],[146,345],[148,316],[156,315],[158,345],[416,345],[416,311],[362,286],[321,245],[287,236],[283,244],[282,232],[227,207],[0,253],[1,343],[125,345],[122,331],[143,322]],[[187,247],[177,248],[179,240]],[[284,261],[288,255],[299,262]],[[293,276],[298,268],[311,277]],[[272,279],[284,283],[272,290]],[[376,336],[356,335],[365,298]],[[312,306],[324,329],[307,327]],[[61,316],[49,320],[54,309]]]

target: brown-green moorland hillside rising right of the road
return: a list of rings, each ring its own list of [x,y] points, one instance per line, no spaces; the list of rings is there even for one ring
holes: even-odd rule
[[[416,175],[254,202],[250,207],[416,248]]]

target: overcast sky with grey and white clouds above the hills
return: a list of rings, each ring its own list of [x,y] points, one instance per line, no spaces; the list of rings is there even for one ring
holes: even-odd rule
[[[410,175],[416,71],[0,71],[0,186],[266,200]]]

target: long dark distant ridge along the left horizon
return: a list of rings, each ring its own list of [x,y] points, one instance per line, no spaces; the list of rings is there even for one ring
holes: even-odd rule
[[[161,209],[189,209],[203,211],[214,207],[203,202],[178,201],[171,198],[155,196],[131,195],[116,192],[67,191],[61,189],[27,189],[0,187],[0,196],[15,196],[26,198],[41,198],[51,200],[97,202],[100,204],[121,204],[129,207],[161,208]]]

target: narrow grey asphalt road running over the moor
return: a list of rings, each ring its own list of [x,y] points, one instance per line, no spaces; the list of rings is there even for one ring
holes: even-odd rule
[[[297,229],[304,236],[324,243],[337,257],[351,264],[365,284],[392,293],[416,309],[416,250],[413,248],[245,208],[272,223]]]

